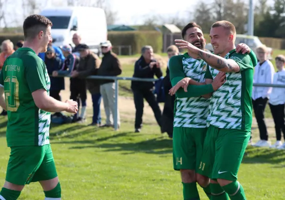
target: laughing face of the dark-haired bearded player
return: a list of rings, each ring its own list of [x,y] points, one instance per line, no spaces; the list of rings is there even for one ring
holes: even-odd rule
[[[199,49],[204,49],[206,43],[203,32],[198,27],[188,28],[183,39],[198,47]]]

